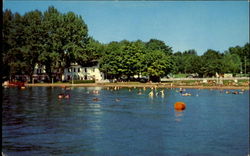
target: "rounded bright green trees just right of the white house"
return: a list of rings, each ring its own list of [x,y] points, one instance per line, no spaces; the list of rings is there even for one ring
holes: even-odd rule
[[[111,42],[106,45],[105,54],[100,60],[100,69],[111,77],[126,76],[129,79],[134,75],[144,75],[149,76],[151,80],[159,81],[160,77],[171,71],[174,64],[167,55],[170,54],[171,48],[161,43],[164,42]]]

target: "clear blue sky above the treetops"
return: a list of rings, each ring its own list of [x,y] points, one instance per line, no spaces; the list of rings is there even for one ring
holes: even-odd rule
[[[247,1],[13,1],[3,9],[24,14],[53,5],[60,12],[73,11],[88,25],[89,35],[101,43],[164,41],[174,52],[207,49],[224,52],[249,42]]]

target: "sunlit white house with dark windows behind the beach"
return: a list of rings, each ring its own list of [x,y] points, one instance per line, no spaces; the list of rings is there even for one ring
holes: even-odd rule
[[[99,65],[82,67],[77,63],[72,63],[69,68],[64,69],[62,80],[96,80],[104,79],[104,74],[100,72]]]

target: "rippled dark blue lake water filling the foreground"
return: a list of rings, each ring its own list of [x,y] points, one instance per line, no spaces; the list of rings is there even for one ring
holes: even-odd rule
[[[150,89],[139,88],[4,88],[2,151],[8,156],[248,155],[248,91],[187,89],[192,96],[181,96],[176,89],[164,90],[164,97],[150,98]],[[57,98],[64,92],[70,99]],[[177,101],[185,102],[186,110],[176,112]]]

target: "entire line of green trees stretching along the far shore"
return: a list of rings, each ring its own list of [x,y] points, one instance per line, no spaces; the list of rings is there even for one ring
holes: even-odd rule
[[[60,13],[49,7],[45,12],[30,11],[24,15],[3,12],[3,76],[29,75],[35,65],[44,65],[50,80],[54,72],[63,74],[71,63],[86,66],[98,61],[107,78],[134,75],[148,76],[152,81],[170,73],[198,73],[200,77],[216,73],[249,73],[249,43],[230,47],[224,53],[208,49],[202,56],[195,50],[173,52],[158,39],[102,44],[88,35],[81,16]]]

